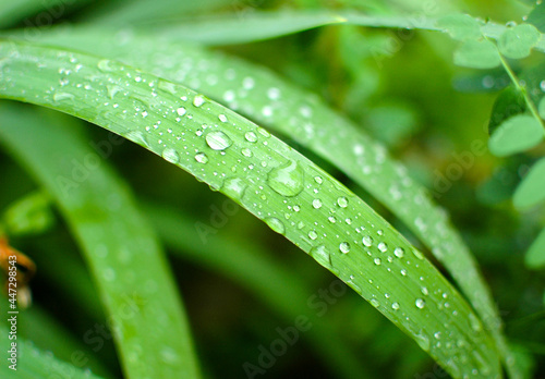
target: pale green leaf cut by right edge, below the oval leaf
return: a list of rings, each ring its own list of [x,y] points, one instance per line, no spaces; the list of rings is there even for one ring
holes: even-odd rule
[[[528,209],[545,200],[545,158],[540,159],[517,187],[513,204],[518,209]]]

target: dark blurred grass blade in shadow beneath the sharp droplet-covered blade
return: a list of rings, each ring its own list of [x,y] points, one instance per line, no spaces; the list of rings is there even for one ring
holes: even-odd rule
[[[143,203],[143,210],[165,244],[175,255],[214,270],[268,304],[287,322],[305,316],[312,329],[304,333],[331,375],[342,378],[371,378],[362,359],[340,338],[338,330],[308,307],[313,292],[302,278],[263,254],[251,241],[232,241],[221,234],[208,235],[206,245],[195,233],[195,221],[180,211]],[[288,297],[286,294],[290,294]]]

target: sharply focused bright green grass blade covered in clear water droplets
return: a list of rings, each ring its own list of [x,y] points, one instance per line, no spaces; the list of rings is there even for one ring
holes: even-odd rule
[[[499,376],[487,331],[435,267],[364,201],[265,130],[117,61],[15,41],[0,44],[0,57],[2,97],[77,115],[162,156],[310,253],[453,377]],[[28,138],[20,133],[24,146]]]

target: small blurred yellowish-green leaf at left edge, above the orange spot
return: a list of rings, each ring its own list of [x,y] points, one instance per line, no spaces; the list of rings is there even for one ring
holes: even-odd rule
[[[34,193],[15,201],[5,210],[2,221],[8,234],[44,232],[55,222],[49,196],[45,193]]]

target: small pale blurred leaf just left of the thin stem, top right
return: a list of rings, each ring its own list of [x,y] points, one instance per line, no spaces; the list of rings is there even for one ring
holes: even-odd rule
[[[501,61],[494,42],[471,39],[455,51],[455,63],[470,69],[494,69]]]

